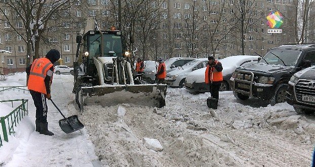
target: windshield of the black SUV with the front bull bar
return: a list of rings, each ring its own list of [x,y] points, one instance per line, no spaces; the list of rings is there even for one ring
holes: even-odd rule
[[[301,53],[301,50],[295,49],[272,49],[263,56],[259,63],[294,66]]]

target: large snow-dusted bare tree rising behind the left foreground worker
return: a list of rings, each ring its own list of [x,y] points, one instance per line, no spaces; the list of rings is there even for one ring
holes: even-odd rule
[[[26,65],[30,64],[31,56],[33,59],[39,57],[41,42],[52,16],[69,8],[73,1],[6,0],[0,2],[0,12],[4,15],[1,20],[9,24],[26,44]],[[21,21],[24,28],[17,26],[15,22],[17,20]]]

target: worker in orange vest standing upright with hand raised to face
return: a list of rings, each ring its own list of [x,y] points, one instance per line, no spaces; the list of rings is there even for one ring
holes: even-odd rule
[[[217,103],[219,101],[220,85],[223,81],[222,70],[223,68],[221,62],[216,60],[214,56],[210,55],[208,57],[207,69],[205,72],[205,83],[210,85],[211,96],[217,99]]]

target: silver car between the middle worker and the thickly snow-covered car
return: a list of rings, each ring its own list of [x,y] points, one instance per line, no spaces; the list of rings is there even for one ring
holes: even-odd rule
[[[185,86],[186,76],[192,71],[204,68],[207,63],[208,58],[198,58],[192,60],[181,66],[181,68],[167,73],[165,83],[173,87],[182,88]]]

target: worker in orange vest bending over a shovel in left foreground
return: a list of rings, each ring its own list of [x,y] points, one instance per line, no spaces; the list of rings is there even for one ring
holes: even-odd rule
[[[54,63],[59,58],[59,51],[51,49],[45,57],[35,59],[26,68],[26,73],[29,75],[27,87],[36,107],[35,130],[43,135],[54,135],[48,130],[46,98],[51,98],[50,86],[53,79]]]

